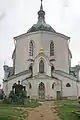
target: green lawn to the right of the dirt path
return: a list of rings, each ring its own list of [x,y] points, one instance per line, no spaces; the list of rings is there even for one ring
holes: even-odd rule
[[[73,113],[74,111],[80,111],[78,101],[61,100],[57,101],[57,106],[61,120],[80,120],[80,118]]]

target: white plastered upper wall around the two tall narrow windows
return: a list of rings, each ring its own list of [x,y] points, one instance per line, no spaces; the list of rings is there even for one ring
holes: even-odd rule
[[[36,32],[27,34],[16,41],[15,73],[29,69],[29,43],[31,40],[34,41],[35,46],[33,59],[40,53],[40,48],[44,49],[44,54],[50,59],[50,41],[53,41],[55,69],[69,72],[68,41],[56,33]]]

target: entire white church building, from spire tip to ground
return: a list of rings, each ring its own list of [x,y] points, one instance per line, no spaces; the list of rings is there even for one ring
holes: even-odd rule
[[[4,65],[6,95],[20,81],[31,99],[77,99],[80,96],[80,66],[71,67],[70,37],[46,24],[42,2],[37,24],[14,40],[13,67]]]

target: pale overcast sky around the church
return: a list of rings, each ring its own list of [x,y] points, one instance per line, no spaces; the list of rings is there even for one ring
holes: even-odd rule
[[[80,0],[44,0],[46,22],[69,37],[72,66],[80,62]],[[3,65],[12,65],[13,37],[37,22],[40,0],[0,0],[0,83]]]

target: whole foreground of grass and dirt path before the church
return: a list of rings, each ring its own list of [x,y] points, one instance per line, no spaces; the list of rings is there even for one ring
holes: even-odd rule
[[[80,120],[78,100],[27,100],[25,105],[2,104],[0,120]]]

